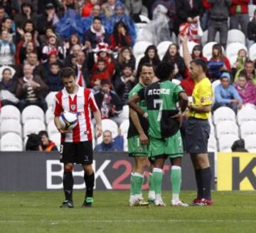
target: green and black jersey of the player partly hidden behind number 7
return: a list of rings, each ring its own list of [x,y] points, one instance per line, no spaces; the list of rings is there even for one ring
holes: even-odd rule
[[[129,97],[132,98],[135,94],[138,94],[138,92],[144,88],[144,85],[141,83],[138,83],[134,88],[129,92]],[[138,103],[139,107],[142,108],[144,111],[146,111],[146,101],[139,101]],[[148,121],[142,117],[142,115],[138,115],[139,117],[139,123],[142,125],[142,129],[144,130],[144,133],[147,135],[147,132],[149,130],[149,123]],[[137,132],[136,127],[134,126],[134,123],[132,122],[132,119],[129,117],[129,130],[128,130],[128,138],[133,137],[135,135],[139,135]]]

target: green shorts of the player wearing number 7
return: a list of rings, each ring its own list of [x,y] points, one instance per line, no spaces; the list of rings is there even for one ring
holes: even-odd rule
[[[165,139],[150,137],[149,157],[157,157],[163,154],[171,159],[183,157],[183,142],[180,130],[176,132],[176,135]]]

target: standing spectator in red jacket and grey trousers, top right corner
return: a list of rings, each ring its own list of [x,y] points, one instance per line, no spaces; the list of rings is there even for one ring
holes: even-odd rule
[[[230,29],[241,26],[242,33],[247,37],[247,24],[249,23],[248,5],[250,0],[232,0],[230,6]]]

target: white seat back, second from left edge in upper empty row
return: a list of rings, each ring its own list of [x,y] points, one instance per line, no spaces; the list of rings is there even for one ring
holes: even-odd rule
[[[38,106],[27,106],[21,113],[22,123],[25,124],[28,120],[41,120],[44,123],[44,113],[42,108]]]

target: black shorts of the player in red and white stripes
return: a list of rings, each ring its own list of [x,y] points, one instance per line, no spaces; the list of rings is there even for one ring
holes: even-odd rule
[[[61,142],[60,162],[64,164],[92,164],[92,141]]]

